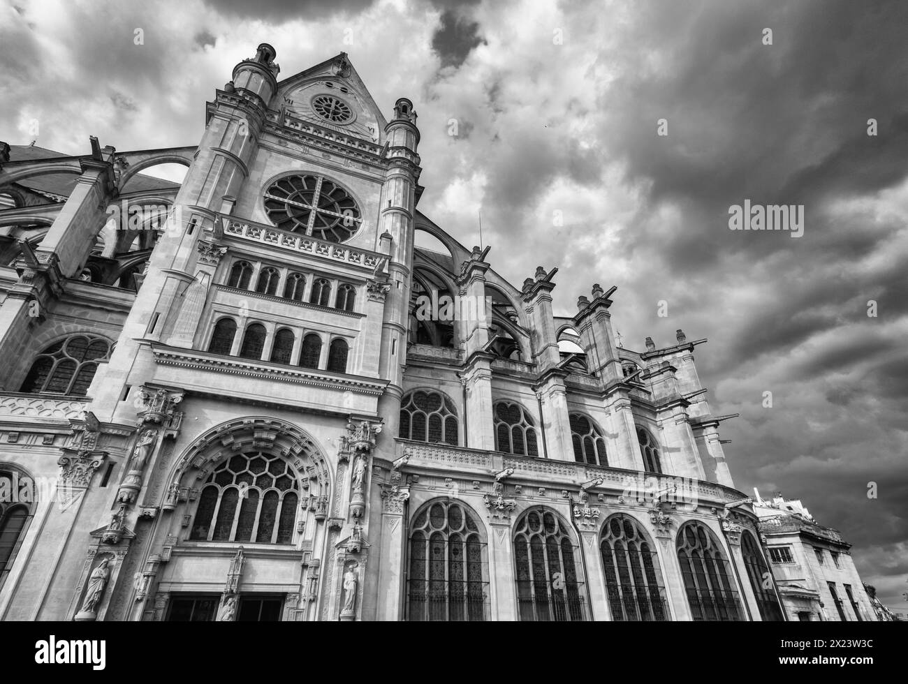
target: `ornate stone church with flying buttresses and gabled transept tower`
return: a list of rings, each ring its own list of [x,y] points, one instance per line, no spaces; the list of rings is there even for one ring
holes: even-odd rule
[[[555,316],[418,209],[409,100],[274,58],[197,147],[0,143],[0,619],[783,619],[705,340]]]

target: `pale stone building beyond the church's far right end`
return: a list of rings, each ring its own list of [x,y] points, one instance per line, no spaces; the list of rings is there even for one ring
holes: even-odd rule
[[[817,524],[800,500],[775,496],[767,502],[754,493],[754,512],[788,619],[880,620],[842,534]]]

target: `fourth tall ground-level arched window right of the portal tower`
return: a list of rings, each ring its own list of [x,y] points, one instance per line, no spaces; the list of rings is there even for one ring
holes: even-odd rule
[[[741,605],[716,535],[686,523],[677,537],[678,563],[694,620],[742,620]]]

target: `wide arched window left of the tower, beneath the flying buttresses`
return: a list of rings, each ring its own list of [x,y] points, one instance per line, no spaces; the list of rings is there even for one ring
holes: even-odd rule
[[[74,335],[55,342],[35,358],[19,391],[85,396],[98,362],[109,359],[110,352],[110,342],[93,335]]]

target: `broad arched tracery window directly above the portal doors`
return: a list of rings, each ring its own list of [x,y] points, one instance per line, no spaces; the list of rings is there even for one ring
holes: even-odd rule
[[[299,502],[298,476],[282,456],[237,454],[205,481],[191,539],[292,543]]]

